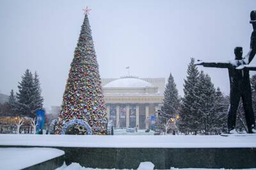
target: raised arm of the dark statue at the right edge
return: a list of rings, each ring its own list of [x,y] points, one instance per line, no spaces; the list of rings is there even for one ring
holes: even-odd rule
[[[252,61],[256,53],[256,11],[252,11],[250,17],[251,17],[250,23],[252,24],[253,32],[251,35],[250,50],[243,57],[245,64],[250,64],[250,62]]]

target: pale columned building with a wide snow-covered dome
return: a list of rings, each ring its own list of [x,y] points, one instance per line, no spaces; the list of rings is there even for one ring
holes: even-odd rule
[[[164,84],[164,78],[102,78],[108,119],[116,128],[150,128],[163,103]]]

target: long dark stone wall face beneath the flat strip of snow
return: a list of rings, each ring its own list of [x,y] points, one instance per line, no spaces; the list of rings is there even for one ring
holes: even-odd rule
[[[67,164],[84,167],[136,169],[150,161],[156,169],[256,167],[256,148],[60,148]]]

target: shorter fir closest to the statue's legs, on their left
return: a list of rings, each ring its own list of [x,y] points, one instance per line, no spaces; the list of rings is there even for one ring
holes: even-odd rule
[[[215,92],[214,101],[214,113],[216,115],[214,121],[215,134],[220,134],[221,132],[227,132],[227,113],[228,113],[229,101],[225,99],[220,88],[218,87]]]

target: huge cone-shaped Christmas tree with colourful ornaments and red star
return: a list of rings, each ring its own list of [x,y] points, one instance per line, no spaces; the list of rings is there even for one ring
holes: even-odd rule
[[[68,74],[56,134],[107,134],[108,119],[88,8]]]

